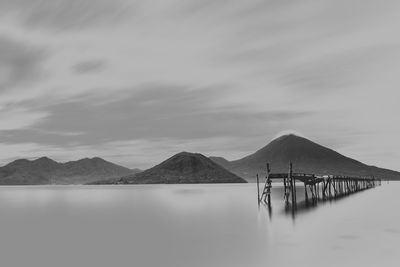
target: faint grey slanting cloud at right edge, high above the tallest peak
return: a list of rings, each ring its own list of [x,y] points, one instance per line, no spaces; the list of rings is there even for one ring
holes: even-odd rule
[[[366,45],[324,55],[318,59],[287,67],[277,75],[293,89],[333,93],[360,84],[379,66],[398,62],[400,48],[394,44]]]

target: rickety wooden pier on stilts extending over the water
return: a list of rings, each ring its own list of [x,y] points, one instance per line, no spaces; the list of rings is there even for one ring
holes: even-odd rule
[[[297,192],[296,181],[304,184],[304,194],[306,202],[316,202],[318,199],[332,199],[343,197],[365,189],[381,185],[380,179],[370,177],[349,177],[337,175],[318,176],[315,174],[293,173],[293,166],[290,163],[288,173],[271,173],[267,163],[267,175],[265,177],[264,188],[260,196],[259,177],[257,175],[258,204],[265,203],[271,206],[272,180],[282,180],[283,197],[285,203],[296,207]]]

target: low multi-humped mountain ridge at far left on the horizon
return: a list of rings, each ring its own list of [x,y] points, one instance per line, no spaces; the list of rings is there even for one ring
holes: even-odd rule
[[[97,157],[66,163],[42,157],[36,160],[19,159],[0,167],[0,184],[84,184],[132,173],[135,171]]]

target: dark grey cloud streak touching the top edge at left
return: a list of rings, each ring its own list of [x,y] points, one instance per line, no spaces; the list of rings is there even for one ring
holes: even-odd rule
[[[79,30],[114,24],[129,6],[120,0],[0,0],[0,14],[18,14],[30,28]]]

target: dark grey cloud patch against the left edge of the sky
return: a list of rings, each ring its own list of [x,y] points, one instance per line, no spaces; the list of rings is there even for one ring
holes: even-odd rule
[[[0,92],[38,81],[45,58],[44,49],[0,36]]]

